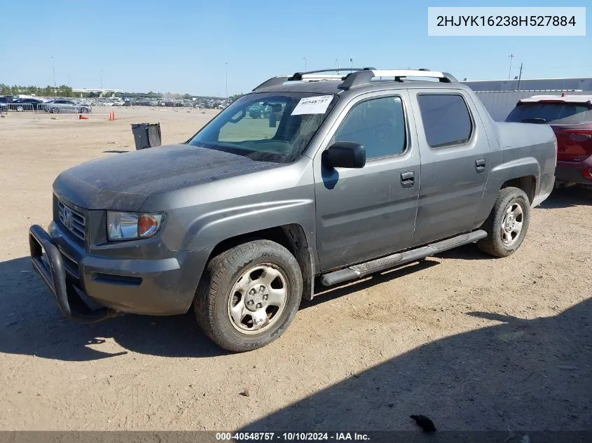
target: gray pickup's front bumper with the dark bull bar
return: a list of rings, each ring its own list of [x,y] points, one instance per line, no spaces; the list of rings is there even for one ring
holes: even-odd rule
[[[92,322],[124,312],[183,314],[191,306],[207,251],[167,250],[167,258],[150,259],[141,247],[121,244],[116,246],[137,251],[137,258],[117,258],[112,250],[97,255],[60,226],[52,223],[49,232],[30,227],[29,247],[34,269],[64,316]],[[93,304],[99,309],[92,309]]]

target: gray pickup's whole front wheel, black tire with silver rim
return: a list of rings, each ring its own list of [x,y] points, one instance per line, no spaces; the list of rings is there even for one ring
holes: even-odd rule
[[[212,258],[193,308],[198,324],[228,351],[261,348],[282,335],[296,316],[302,273],[284,246],[249,241]]]

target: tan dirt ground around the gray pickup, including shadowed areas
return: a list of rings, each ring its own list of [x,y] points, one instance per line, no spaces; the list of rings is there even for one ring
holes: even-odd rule
[[[0,118],[0,430],[592,430],[592,196],[554,193],[515,255],[474,246],[303,302],[276,342],[238,355],[191,314],[62,318],[32,271],[67,167],[133,150],[131,123],[188,139],[213,112]]]

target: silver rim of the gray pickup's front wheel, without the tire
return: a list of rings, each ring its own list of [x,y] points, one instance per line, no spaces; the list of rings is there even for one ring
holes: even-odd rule
[[[228,295],[228,318],[243,334],[259,334],[282,316],[288,279],[279,267],[263,263],[250,267],[235,281]]]

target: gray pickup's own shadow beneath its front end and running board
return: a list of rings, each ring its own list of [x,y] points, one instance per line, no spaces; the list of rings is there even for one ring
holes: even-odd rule
[[[301,309],[434,265],[437,262],[425,260],[348,287],[327,290],[319,285],[319,297],[313,302],[303,301]],[[128,351],[156,356],[208,358],[228,354],[198,328],[191,309],[179,316],[124,315],[90,325],[75,323],[62,317],[29,257],[0,262],[0,353],[65,361],[116,358],[127,353],[93,349],[108,339]]]

